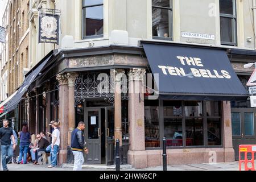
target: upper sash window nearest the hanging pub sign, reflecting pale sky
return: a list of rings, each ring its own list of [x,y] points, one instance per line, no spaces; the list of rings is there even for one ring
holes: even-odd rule
[[[103,0],[82,1],[82,39],[103,36]]]

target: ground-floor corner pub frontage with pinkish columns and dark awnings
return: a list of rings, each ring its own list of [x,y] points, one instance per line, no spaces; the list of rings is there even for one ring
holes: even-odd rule
[[[55,49],[27,73],[5,113],[18,108],[31,133],[50,131],[49,122],[59,121],[60,164],[73,163],[71,132],[80,121],[89,148],[85,164],[114,164],[114,140],[120,139],[121,164],[160,166],[163,137],[167,164],[209,163],[211,157],[232,162],[230,101],[246,102],[248,94],[227,53],[153,41]],[[97,90],[102,73],[110,85],[103,93]],[[151,87],[147,73],[154,76]],[[120,92],[125,86],[129,92]]]

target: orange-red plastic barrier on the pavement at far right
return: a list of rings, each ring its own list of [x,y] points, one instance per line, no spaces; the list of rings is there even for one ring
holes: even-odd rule
[[[245,154],[245,159],[241,159],[241,153]],[[239,146],[239,170],[242,170],[242,163],[245,163],[245,171],[255,171],[254,167],[254,153],[256,152],[255,144],[241,144]],[[247,158],[247,154],[251,153],[251,159]],[[251,163],[251,167],[248,167],[248,163]]]

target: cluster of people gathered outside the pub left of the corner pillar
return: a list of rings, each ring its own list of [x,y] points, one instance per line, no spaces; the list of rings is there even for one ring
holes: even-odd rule
[[[0,139],[1,139],[1,153],[2,153],[2,167],[4,171],[8,171],[7,164],[11,162],[13,158],[13,163],[16,164],[26,164],[27,155],[31,155],[31,163],[38,165],[39,152],[44,151],[51,154],[51,165],[49,168],[57,166],[57,154],[60,148],[60,130],[59,123],[51,121],[49,125],[53,128],[51,135],[51,144],[46,139],[44,132],[40,134],[30,134],[28,132],[27,125],[22,127],[19,135],[11,129],[9,126],[9,121],[7,119],[3,120],[3,127],[0,129]],[[16,162],[15,150],[19,140],[19,158]]]

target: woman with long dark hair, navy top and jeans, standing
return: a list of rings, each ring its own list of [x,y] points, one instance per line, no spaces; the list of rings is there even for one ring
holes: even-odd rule
[[[28,147],[30,146],[30,142],[31,142],[31,137],[30,137],[30,133],[28,132],[28,127],[23,126],[22,131],[20,132],[19,159],[17,164],[20,164],[22,162],[22,157],[23,157],[23,164],[27,163],[27,151],[28,151]]]

